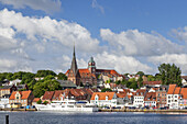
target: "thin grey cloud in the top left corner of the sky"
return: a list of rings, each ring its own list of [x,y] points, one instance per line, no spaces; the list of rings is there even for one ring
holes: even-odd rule
[[[11,4],[14,9],[24,9],[30,7],[34,10],[42,10],[47,13],[61,10],[61,0],[0,0],[4,4]]]

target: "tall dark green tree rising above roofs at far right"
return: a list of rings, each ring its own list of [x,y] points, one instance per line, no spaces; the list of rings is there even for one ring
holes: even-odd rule
[[[182,86],[182,70],[175,64],[162,64],[158,66],[163,84],[176,83]]]

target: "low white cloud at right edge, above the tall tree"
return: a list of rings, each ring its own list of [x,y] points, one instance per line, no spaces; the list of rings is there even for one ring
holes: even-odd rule
[[[187,74],[187,54],[164,54],[162,56],[148,57],[147,59],[157,66],[163,63],[175,64],[180,67],[183,74]]]

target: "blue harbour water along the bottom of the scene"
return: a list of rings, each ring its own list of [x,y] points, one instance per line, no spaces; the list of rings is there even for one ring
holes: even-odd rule
[[[66,112],[0,112],[0,124],[187,124],[187,113],[66,113]]]

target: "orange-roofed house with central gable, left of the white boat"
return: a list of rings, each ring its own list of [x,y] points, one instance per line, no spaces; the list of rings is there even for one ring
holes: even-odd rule
[[[9,103],[11,108],[14,104],[21,104],[22,106],[32,105],[34,95],[31,90],[29,91],[13,91],[9,98]]]

